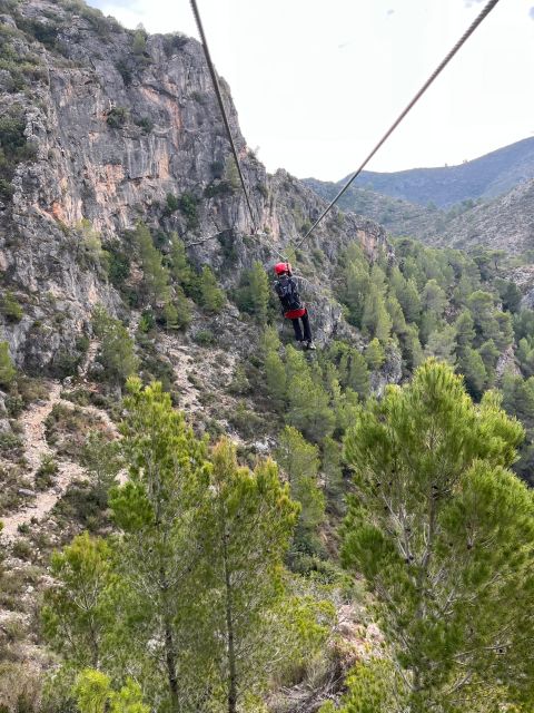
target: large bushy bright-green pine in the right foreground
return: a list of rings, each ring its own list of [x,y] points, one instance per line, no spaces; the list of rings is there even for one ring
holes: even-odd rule
[[[356,494],[343,557],[409,671],[411,713],[466,701],[497,710],[498,682],[506,703],[532,703],[534,512],[507,470],[522,436],[495,394],[476,408],[461,378],[429,361],[346,439]]]

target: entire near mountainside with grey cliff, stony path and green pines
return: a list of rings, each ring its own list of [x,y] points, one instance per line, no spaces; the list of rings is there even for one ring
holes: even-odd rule
[[[195,40],[0,38],[0,713],[530,713],[528,265],[337,209],[297,250],[325,203],[224,84],[255,229]]]

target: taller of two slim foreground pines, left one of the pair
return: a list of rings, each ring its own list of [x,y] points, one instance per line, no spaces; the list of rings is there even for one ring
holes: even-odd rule
[[[138,379],[130,380],[125,407],[122,446],[130,477],[110,496],[123,533],[117,555],[123,616],[130,622],[122,631],[123,647],[134,647],[140,660],[145,652],[151,657],[146,663],[155,667],[151,685],[159,684],[161,672],[175,713],[190,697],[201,696],[200,682],[207,677],[201,651],[190,661],[179,641],[192,635],[191,626],[200,641],[208,636],[202,619],[192,621],[190,613],[198,559],[195,514],[208,497],[208,452],[206,442],[198,441],[172,409],[161,384],[142,389]],[[150,641],[161,645],[154,649]]]

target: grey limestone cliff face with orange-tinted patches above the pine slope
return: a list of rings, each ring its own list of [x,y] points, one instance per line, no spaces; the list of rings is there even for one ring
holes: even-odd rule
[[[0,193],[0,285],[20,296],[24,312],[18,322],[0,315],[0,339],[18,365],[53,368],[90,332],[95,304],[125,310],[106,276],[83,260],[82,221],[103,242],[120,242],[139,219],[177,232],[197,243],[190,258],[209,264],[228,289],[253,261],[269,267],[286,256],[323,211],[323,199],[286,172],[267,175],[240,134],[222,80],[253,223],[196,40],[128,31],[62,0],[21,0],[0,17],[2,27],[21,60],[34,66],[23,87],[13,88],[12,79],[2,85],[0,76],[0,116],[22,116],[32,149],[14,169],[12,197]],[[195,225],[169,208],[168,196],[185,194],[197,205]],[[202,242],[215,234],[218,240]],[[319,340],[350,331],[333,301],[332,279],[352,241],[372,256],[392,252],[379,226],[334,209],[297,253]]]

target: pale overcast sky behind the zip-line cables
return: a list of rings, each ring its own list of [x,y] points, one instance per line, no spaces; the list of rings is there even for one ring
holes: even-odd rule
[[[485,0],[484,0],[485,1]],[[198,37],[189,0],[89,0],[125,27]],[[198,0],[247,144],[274,173],[354,172],[481,0]],[[369,170],[472,160],[534,136],[534,0],[501,0]]]

